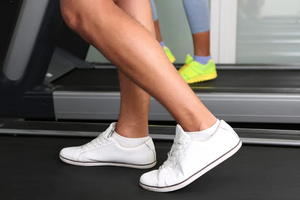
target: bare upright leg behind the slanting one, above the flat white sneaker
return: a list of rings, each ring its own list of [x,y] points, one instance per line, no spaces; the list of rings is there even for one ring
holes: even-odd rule
[[[148,17],[150,13],[147,4],[141,0],[118,0],[116,3],[124,12],[132,16],[147,28],[153,35],[153,20]],[[146,7],[145,7],[146,6]],[[145,7],[145,8],[144,8]],[[148,136],[148,112],[150,95],[132,82],[124,73],[119,71],[121,92],[121,107],[116,132],[124,137],[138,138]]]

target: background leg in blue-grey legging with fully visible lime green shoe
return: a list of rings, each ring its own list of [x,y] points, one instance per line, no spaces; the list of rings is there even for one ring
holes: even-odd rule
[[[217,76],[210,56],[210,17],[207,0],[182,0],[192,33],[194,56],[187,55],[179,73],[188,83],[210,80]]]

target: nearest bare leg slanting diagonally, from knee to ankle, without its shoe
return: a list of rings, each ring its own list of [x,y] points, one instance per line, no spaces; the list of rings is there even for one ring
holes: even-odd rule
[[[150,10],[149,1],[143,2]],[[185,131],[204,130],[215,123],[151,32],[112,0],[61,0],[61,8],[70,28],[157,99]]]

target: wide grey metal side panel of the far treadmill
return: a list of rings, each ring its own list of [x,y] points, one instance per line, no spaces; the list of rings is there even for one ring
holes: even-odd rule
[[[218,118],[234,122],[300,121],[300,94],[196,93]],[[57,119],[118,118],[119,92],[54,91]],[[150,99],[149,120],[173,120],[154,98]]]

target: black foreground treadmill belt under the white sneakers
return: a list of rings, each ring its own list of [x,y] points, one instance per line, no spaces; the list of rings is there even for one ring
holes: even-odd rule
[[[168,193],[142,189],[151,169],[73,166],[58,158],[62,147],[90,139],[0,136],[3,199],[299,199],[299,148],[242,146],[188,186]],[[157,168],[171,143],[155,142]],[[205,152],[203,152],[205,153]]]

